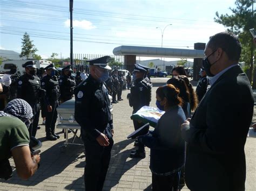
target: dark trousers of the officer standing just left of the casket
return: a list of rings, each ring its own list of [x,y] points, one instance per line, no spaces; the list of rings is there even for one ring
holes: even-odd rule
[[[46,108],[46,116],[45,116],[45,132],[46,136],[51,135],[52,133],[55,133],[55,123],[57,121],[57,102],[50,103],[52,107],[52,111],[48,112]],[[46,106],[47,107],[47,106]]]

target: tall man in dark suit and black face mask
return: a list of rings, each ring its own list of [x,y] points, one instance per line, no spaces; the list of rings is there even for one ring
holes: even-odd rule
[[[238,65],[241,44],[231,33],[210,38],[203,66],[211,88],[181,125],[187,142],[185,180],[192,191],[245,190],[247,132],[253,115],[251,84]]]

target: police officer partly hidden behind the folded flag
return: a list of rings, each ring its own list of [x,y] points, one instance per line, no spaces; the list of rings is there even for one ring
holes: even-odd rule
[[[149,68],[138,64],[134,65],[133,81],[131,93],[127,95],[130,107],[133,107],[132,114],[136,113],[140,108],[149,105],[151,101],[152,83],[147,78],[146,73]],[[139,129],[144,124],[133,120],[134,130]],[[130,154],[131,158],[145,158],[145,146],[143,143],[136,142],[134,146],[138,146],[136,151]]]

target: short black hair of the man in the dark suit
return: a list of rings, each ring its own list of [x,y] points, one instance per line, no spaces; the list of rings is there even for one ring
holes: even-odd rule
[[[210,37],[208,47],[213,51],[217,48],[226,52],[229,60],[238,61],[241,54],[241,43],[231,32],[220,32]]]

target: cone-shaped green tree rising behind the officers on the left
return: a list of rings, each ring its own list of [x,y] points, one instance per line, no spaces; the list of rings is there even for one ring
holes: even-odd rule
[[[26,59],[29,59],[29,57],[33,58],[36,55],[38,50],[32,43],[33,40],[30,40],[29,34],[25,32],[22,38],[22,52],[19,57],[25,56]]]

